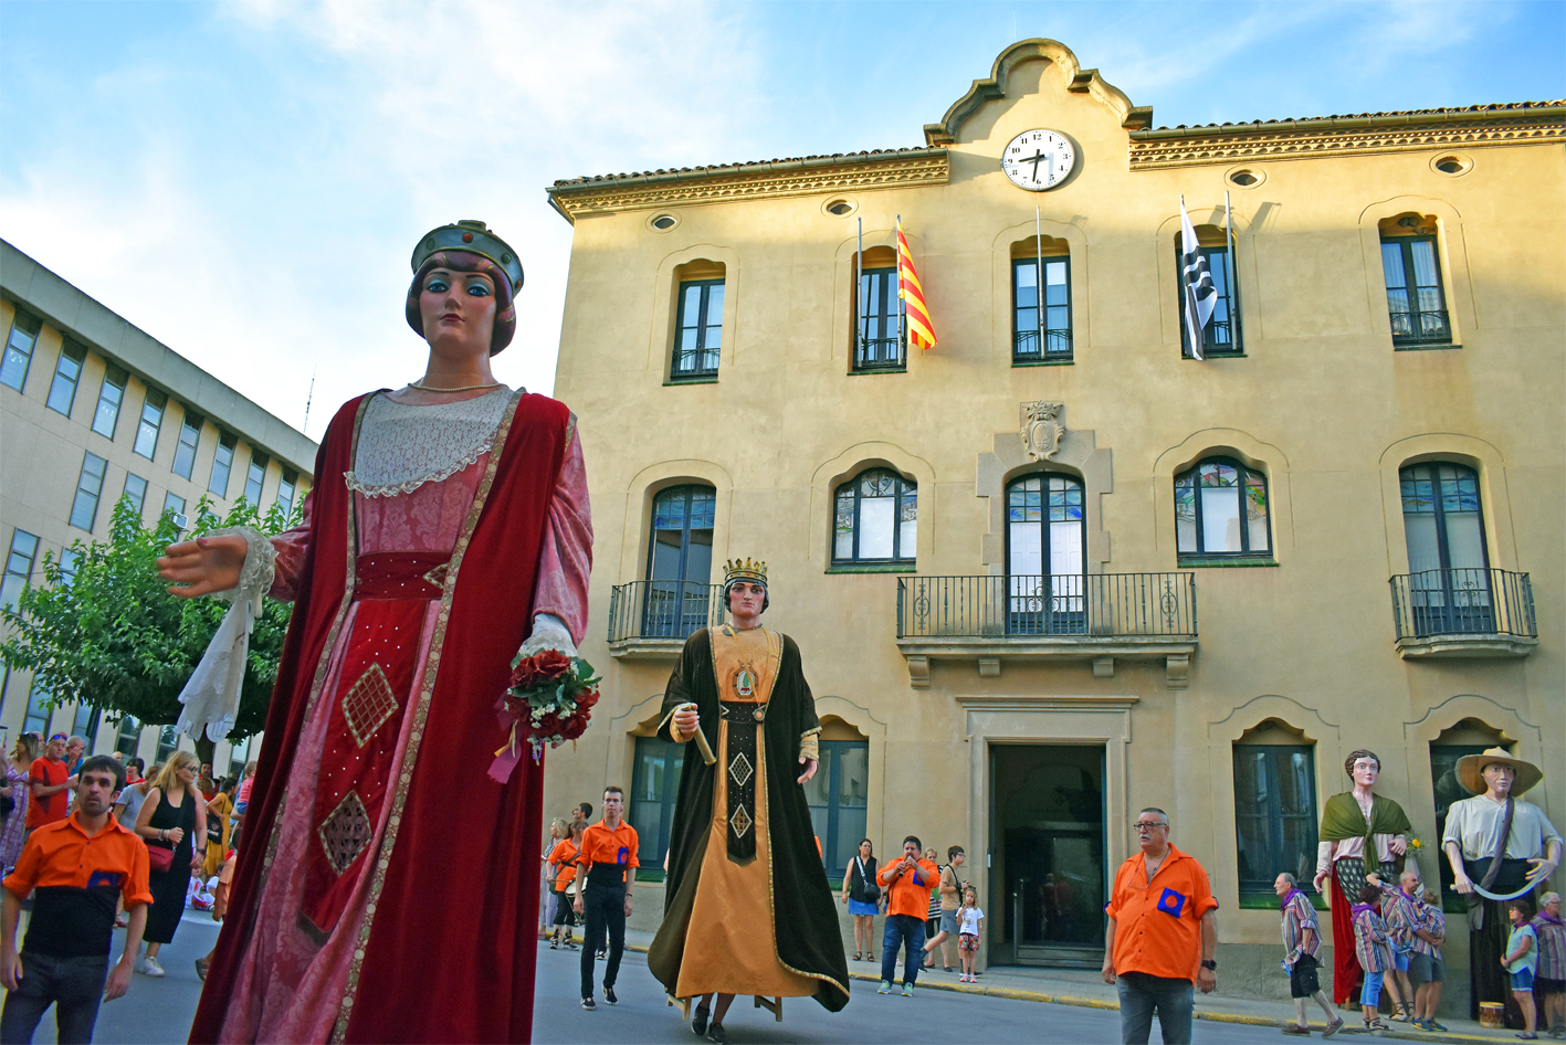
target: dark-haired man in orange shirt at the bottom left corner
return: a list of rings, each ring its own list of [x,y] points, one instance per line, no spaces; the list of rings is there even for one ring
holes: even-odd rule
[[[0,984],[9,992],[0,1012],[0,1042],[31,1042],[50,1004],[60,1042],[91,1042],[100,1001],[130,987],[147,925],[147,846],[119,826],[110,807],[122,777],[117,762],[92,756],[81,763],[77,812],[38,828],[0,903]],[[22,953],[16,926],[33,895],[33,920]],[[125,950],[110,971],[116,900],[125,901]]]

